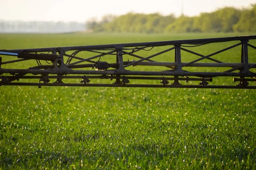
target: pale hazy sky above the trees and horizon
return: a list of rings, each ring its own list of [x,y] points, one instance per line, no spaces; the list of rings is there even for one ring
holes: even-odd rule
[[[249,7],[256,0],[0,0],[0,20],[78,21],[128,12],[194,16],[224,6]],[[182,5],[183,4],[183,5]]]

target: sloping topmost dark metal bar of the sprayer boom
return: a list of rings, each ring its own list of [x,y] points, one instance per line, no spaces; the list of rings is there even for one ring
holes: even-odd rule
[[[58,50],[63,48],[64,51],[72,50],[92,50],[92,49],[105,49],[105,48],[116,48],[117,46],[121,47],[142,47],[142,46],[164,46],[164,45],[177,45],[177,44],[187,44],[187,45],[198,45],[198,44],[208,44],[215,42],[228,42],[228,41],[238,41],[238,40],[254,40],[256,35],[251,36],[237,36],[237,37],[222,37],[222,38],[206,38],[206,39],[193,39],[193,40],[174,40],[174,41],[158,41],[158,42],[137,42],[137,43],[122,43],[122,44],[108,44],[108,45],[86,45],[86,46],[73,46],[73,47],[54,47],[54,48],[31,48],[26,49],[33,52],[48,52]],[[3,51],[3,50],[1,50]],[[18,53],[22,52],[24,49],[17,50],[4,50],[3,52],[12,52]]]

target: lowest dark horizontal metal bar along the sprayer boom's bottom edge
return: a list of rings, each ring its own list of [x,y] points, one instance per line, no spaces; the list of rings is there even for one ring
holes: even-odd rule
[[[71,87],[126,87],[126,88],[229,88],[229,89],[256,89],[256,86],[236,85],[141,85],[141,84],[83,84],[83,83],[22,83],[11,82],[5,85],[18,86],[71,86]]]

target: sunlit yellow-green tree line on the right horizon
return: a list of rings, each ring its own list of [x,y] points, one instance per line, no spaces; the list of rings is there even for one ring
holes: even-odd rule
[[[158,13],[106,15],[102,20],[86,22],[93,32],[185,33],[185,32],[256,32],[256,4],[248,8],[225,7],[199,16],[175,17]]]

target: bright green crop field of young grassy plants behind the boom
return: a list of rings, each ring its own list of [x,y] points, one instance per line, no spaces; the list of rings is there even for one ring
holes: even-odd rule
[[[0,34],[0,49],[236,35]],[[1,86],[0,96],[0,169],[256,169],[255,90]]]

